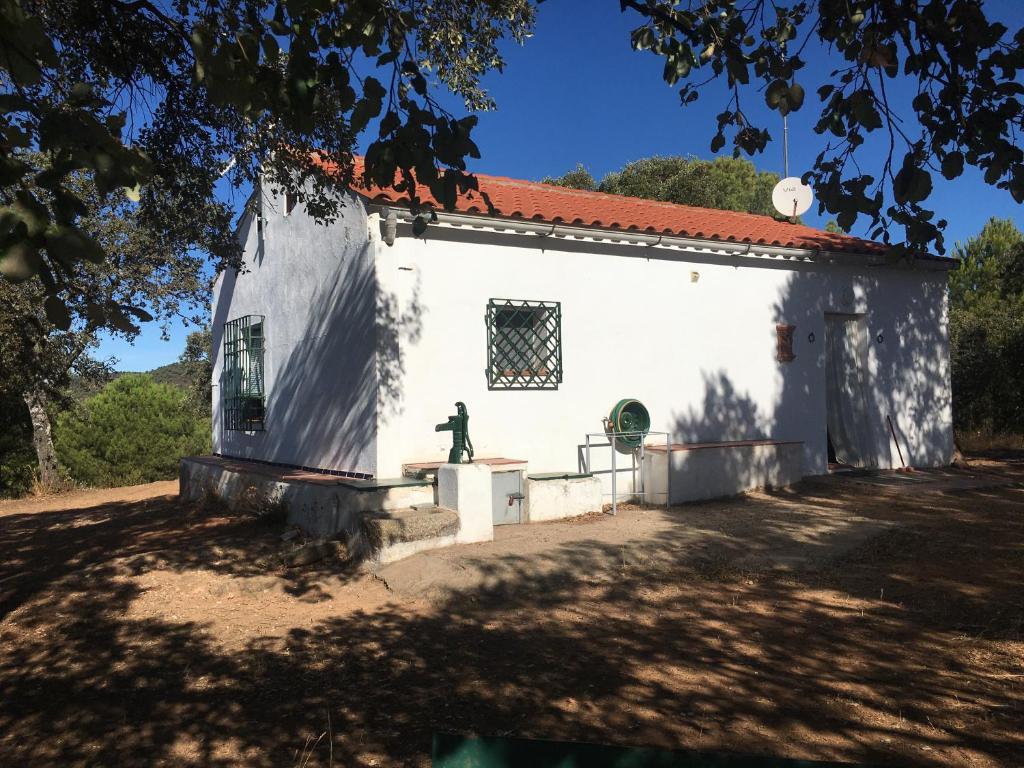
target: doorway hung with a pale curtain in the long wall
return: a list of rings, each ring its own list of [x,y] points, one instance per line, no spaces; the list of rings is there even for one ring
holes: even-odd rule
[[[825,409],[836,461],[874,466],[867,407],[867,329],[863,315],[825,314]]]

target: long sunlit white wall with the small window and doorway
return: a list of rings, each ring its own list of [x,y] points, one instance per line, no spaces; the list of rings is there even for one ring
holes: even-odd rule
[[[379,414],[382,475],[443,458],[450,435],[433,427],[456,400],[468,407],[478,456],[526,460],[530,472],[575,470],[584,434],[600,431],[601,417],[623,397],[643,401],[652,429],[676,440],[803,440],[805,473],[823,473],[824,313],[833,311],[865,315],[876,463],[899,466],[887,414],[910,463],[949,461],[944,272],[438,225],[424,239],[404,225],[398,231],[393,247],[376,244],[378,281],[415,333],[401,336],[400,386]],[[490,298],[562,303],[557,391],[487,389]],[[779,323],[797,326],[788,364],[775,359]],[[607,468],[608,452],[595,453],[594,464]]]

